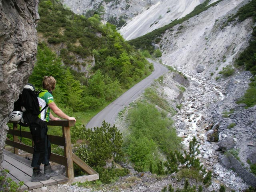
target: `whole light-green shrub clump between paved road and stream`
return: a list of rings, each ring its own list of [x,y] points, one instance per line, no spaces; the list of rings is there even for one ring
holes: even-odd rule
[[[130,134],[125,138],[124,150],[135,169],[163,174],[159,149],[166,153],[171,148],[180,148],[173,122],[154,105],[140,102],[129,111],[128,120]]]

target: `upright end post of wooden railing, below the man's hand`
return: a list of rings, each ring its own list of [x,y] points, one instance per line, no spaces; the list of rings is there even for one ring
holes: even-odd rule
[[[70,180],[74,179],[74,166],[72,159],[72,144],[71,144],[71,136],[70,136],[70,127],[62,127],[63,136],[66,138],[65,146],[64,146],[64,156],[67,158],[66,167],[66,177]]]

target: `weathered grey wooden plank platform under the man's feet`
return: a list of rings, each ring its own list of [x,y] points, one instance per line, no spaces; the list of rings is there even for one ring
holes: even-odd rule
[[[49,180],[41,182],[31,182],[32,167],[31,161],[12,152],[4,150],[4,162],[2,163],[4,169],[9,170],[7,177],[13,181],[24,181],[22,190],[31,190],[41,188],[42,186],[49,186],[55,184],[63,184],[68,182],[68,178],[63,175],[53,176]]]

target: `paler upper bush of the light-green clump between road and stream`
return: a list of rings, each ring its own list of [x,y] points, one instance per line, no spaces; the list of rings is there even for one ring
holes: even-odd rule
[[[136,103],[136,108],[130,110],[128,114],[130,120],[130,132],[136,138],[141,135],[148,140],[153,140],[158,144],[163,152],[170,149],[180,149],[180,141],[172,126],[173,121],[167,117],[166,113],[161,113],[153,104]]]

